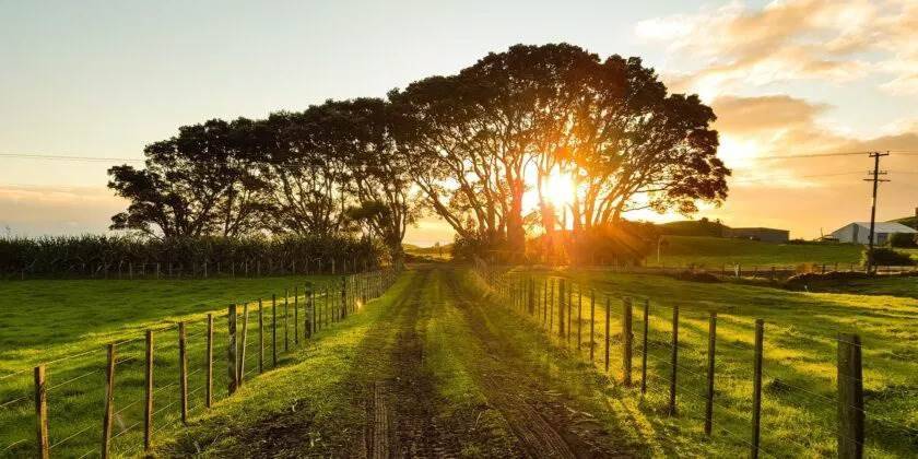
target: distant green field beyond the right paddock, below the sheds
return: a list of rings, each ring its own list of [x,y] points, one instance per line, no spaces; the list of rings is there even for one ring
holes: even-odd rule
[[[859,263],[862,247],[852,244],[773,244],[748,239],[703,236],[666,236],[660,262],[656,254],[647,257],[648,266],[691,264],[720,269],[723,264],[788,266],[803,263],[834,266],[848,269]]]

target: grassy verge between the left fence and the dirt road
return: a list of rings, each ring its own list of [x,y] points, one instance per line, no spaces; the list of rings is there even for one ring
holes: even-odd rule
[[[380,317],[404,294],[412,276],[403,276],[358,314],[320,331],[303,352],[293,354],[292,365],[266,374],[258,384],[216,404],[160,451],[166,456],[258,456],[266,440],[273,443],[271,450],[278,456],[321,457],[353,450],[365,415],[361,404],[354,403],[355,391],[365,382],[355,379],[355,362],[367,346],[385,345],[388,333],[374,330],[379,330]],[[382,341],[377,340],[380,337]],[[378,368],[360,369],[362,378],[372,378]]]

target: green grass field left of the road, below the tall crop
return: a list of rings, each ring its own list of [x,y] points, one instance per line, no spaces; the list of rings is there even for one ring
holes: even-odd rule
[[[337,280],[337,279],[336,279]],[[248,304],[250,333],[247,373],[257,367],[256,298],[264,298],[266,327],[272,317],[271,295],[278,295],[283,330],[284,293],[290,292],[287,338],[305,332],[304,286],[317,294],[331,278],[290,276],[168,281],[22,281],[0,286],[0,457],[34,450],[32,367],[47,363],[48,412],[52,454],[79,457],[97,450],[103,413],[104,346],[117,342],[115,435],[113,450],[125,454],[139,445],[142,417],[143,332],[154,329],[155,426],[168,429],[178,419],[178,332],[186,321],[189,400],[192,412],[203,405],[205,316],[214,318],[214,398],[226,395],[226,307]],[[295,298],[294,287],[299,297]],[[333,296],[333,295],[332,295]],[[323,298],[323,297],[322,297]],[[337,298],[336,298],[337,299]],[[294,308],[294,305],[298,307]],[[317,301],[320,311],[328,309]],[[243,308],[239,307],[239,314]],[[239,318],[239,328],[243,319]],[[279,337],[280,364],[287,358]],[[303,338],[299,338],[302,341]],[[267,344],[270,352],[270,341]],[[270,360],[270,353],[269,360]],[[158,435],[163,435],[160,433]]]

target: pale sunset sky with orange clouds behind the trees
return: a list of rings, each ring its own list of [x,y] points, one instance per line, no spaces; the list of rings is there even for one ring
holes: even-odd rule
[[[892,150],[878,217],[918,207],[918,0],[156,1],[0,0],[0,232],[104,232],[106,188],[183,125],[385,96],[518,43],[638,56],[697,93],[733,169],[695,217],[815,237],[870,216],[866,154]],[[643,213],[634,219],[681,220]],[[450,242],[427,216],[408,243]]]

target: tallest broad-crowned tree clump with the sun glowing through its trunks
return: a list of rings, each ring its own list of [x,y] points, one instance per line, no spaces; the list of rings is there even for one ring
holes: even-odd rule
[[[390,99],[416,123],[407,143],[419,187],[463,237],[506,238],[521,250],[533,181],[551,232],[543,185],[560,172],[575,181],[566,210],[575,232],[639,208],[691,213],[697,200],[726,197],[713,111],[696,96],[669,95],[636,58],[518,45]]]

